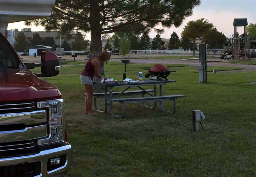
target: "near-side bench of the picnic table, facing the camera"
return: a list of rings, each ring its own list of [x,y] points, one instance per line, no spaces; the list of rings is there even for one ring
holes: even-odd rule
[[[147,107],[145,102],[160,102],[160,109],[165,112],[175,113],[177,110],[177,98],[182,98],[184,95],[167,95],[167,96],[149,96],[149,97],[139,97],[139,98],[112,98],[109,101],[112,102],[120,102],[122,103],[122,114],[119,117],[125,116],[125,104],[128,103],[142,103],[144,107]],[[173,111],[166,111],[163,108],[163,101],[171,101],[173,100]],[[111,109],[111,107],[110,107]]]

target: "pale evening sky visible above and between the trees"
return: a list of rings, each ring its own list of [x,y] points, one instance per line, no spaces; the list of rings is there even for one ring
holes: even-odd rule
[[[256,24],[256,0],[202,0],[202,3],[193,9],[193,15],[186,18],[179,27],[165,28],[165,32],[161,34],[161,38],[170,38],[172,32],[176,32],[181,38],[181,32],[188,21],[205,18],[212,23],[219,32],[222,32],[226,37],[234,33],[233,20],[234,18],[247,18],[248,25]],[[24,22],[10,23],[8,30],[18,28],[31,28],[32,31],[44,31],[43,27],[25,26]],[[157,28],[163,28],[161,25]],[[169,32],[167,32],[169,31]],[[237,32],[242,34],[243,27],[237,27]],[[156,36],[156,32],[152,30],[149,33],[150,38]],[[110,34],[111,35],[111,34]],[[85,39],[90,40],[90,33],[87,33]]]

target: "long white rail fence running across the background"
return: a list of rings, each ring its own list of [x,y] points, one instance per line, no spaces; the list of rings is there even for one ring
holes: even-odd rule
[[[215,54],[221,54],[222,49],[215,49]],[[253,49],[251,49],[253,52]],[[23,52],[17,52],[18,55],[22,55]],[[84,51],[65,51],[65,55],[74,55],[75,53],[84,53]],[[130,54],[175,54],[175,53],[190,53],[193,54],[193,50],[131,50]],[[195,50],[195,53],[199,53],[199,50]],[[213,54],[213,49],[206,50],[207,54]]]

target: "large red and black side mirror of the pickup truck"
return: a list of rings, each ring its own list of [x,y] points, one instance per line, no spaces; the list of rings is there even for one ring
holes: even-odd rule
[[[51,77],[60,73],[59,60],[54,52],[41,53],[41,74],[39,76]]]

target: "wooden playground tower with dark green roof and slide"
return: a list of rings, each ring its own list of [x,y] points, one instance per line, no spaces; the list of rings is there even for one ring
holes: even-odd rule
[[[234,36],[227,40],[224,46],[226,51],[221,54],[220,58],[226,59],[231,54],[233,60],[251,60],[251,57],[255,57],[255,53],[251,53],[250,44],[255,43],[255,40],[250,40],[250,36],[247,34],[247,18],[234,18],[233,25]],[[244,27],[244,33],[241,37],[236,31],[237,26]]]

